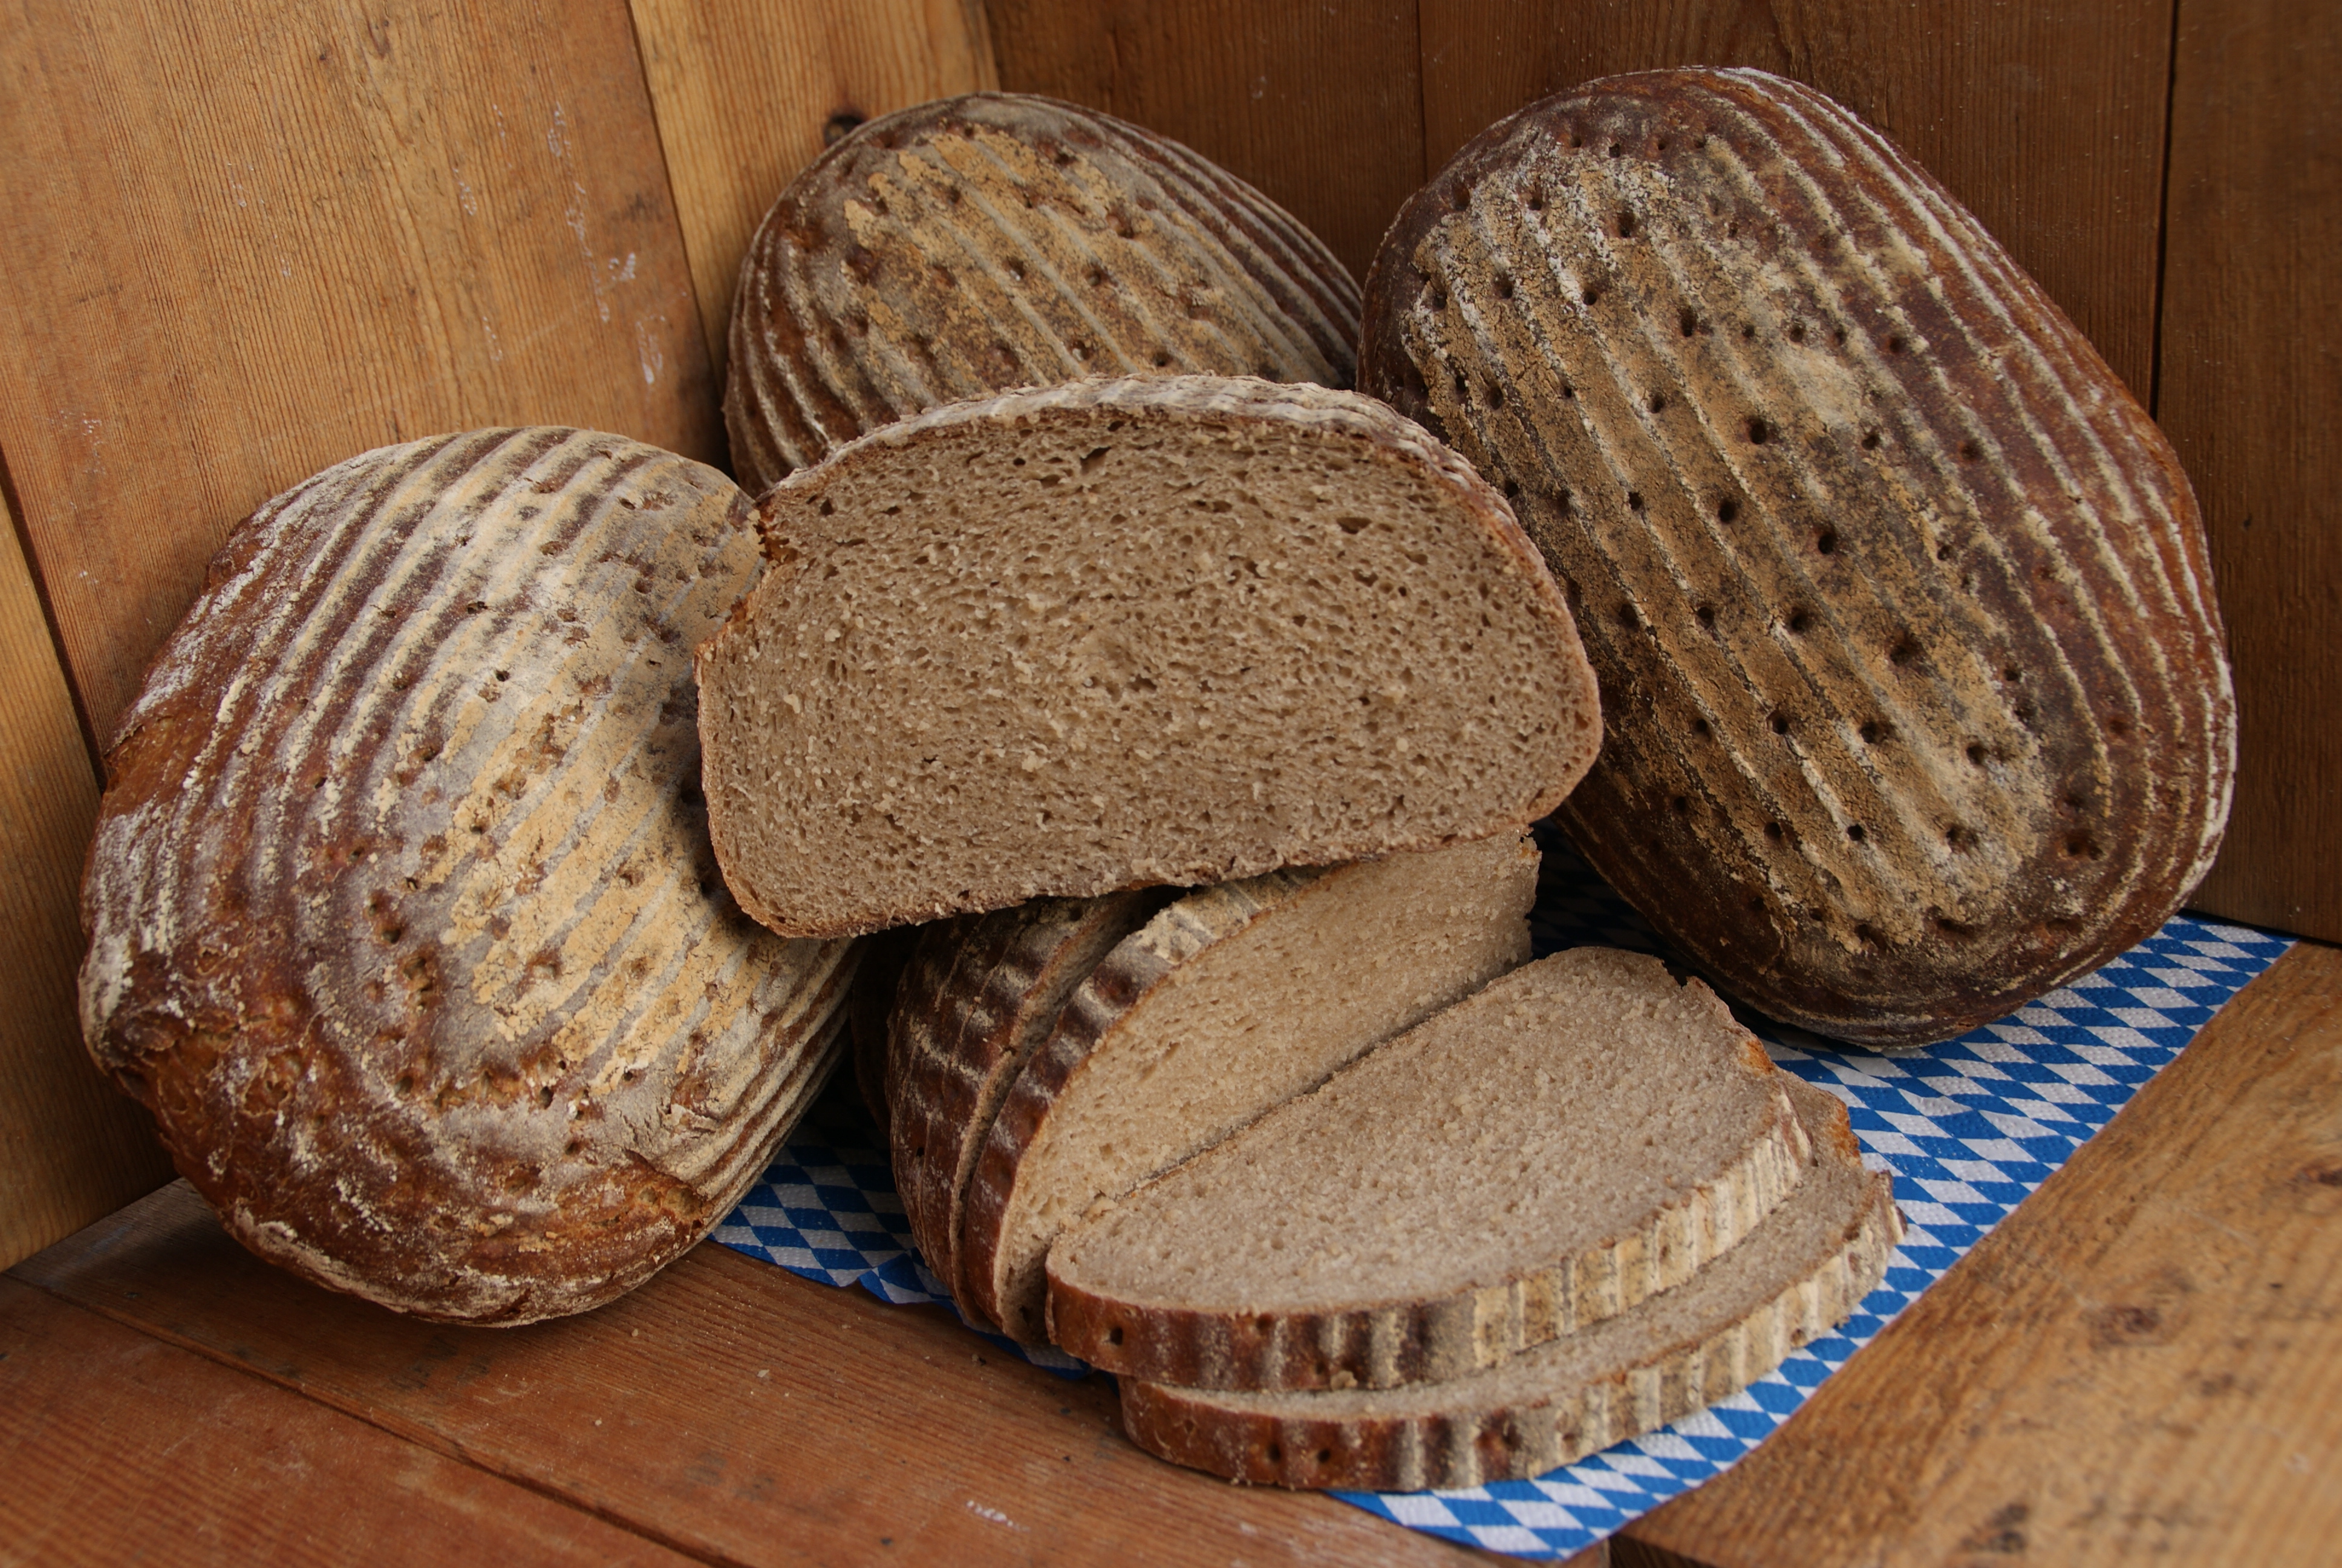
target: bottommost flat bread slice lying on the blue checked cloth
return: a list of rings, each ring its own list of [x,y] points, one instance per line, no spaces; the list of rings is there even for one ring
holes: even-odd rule
[[[1419,1491],[1543,1474],[1747,1388],[1843,1322],[1902,1238],[1845,1106],[1787,1088],[1813,1146],[1803,1179],[1684,1284],[1447,1383],[1244,1395],[1122,1378],[1124,1430],[1234,1481]]]

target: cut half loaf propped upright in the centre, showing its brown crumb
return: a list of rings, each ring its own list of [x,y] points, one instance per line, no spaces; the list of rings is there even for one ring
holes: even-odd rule
[[[1600,741],[1504,499],[1356,394],[956,403],[763,513],[700,736],[724,874],[782,935],[1508,834]]]

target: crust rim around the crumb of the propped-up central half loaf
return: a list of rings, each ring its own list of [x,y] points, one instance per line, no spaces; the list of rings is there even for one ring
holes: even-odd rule
[[[1180,846],[1145,863],[1098,865],[1082,879],[1038,884],[1021,865],[1002,867],[979,886],[937,888],[932,900],[916,905],[855,900],[852,888],[822,886],[820,902],[808,888],[782,881],[787,867],[763,867],[742,853],[735,818],[747,820],[749,799],[761,788],[756,759],[745,755],[721,727],[728,691],[754,680],[747,661],[754,656],[754,628],[775,616],[789,591],[789,574],[815,570],[806,541],[815,534],[822,506],[834,488],[855,483],[867,466],[895,450],[944,450],[960,436],[1014,441],[1054,427],[1084,429],[1096,422],[1166,422],[1213,431],[1241,431],[1262,441],[1295,436],[1349,448],[1372,464],[1398,464],[1431,478],[1450,495],[1459,513],[1480,530],[1482,541],[1506,563],[1508,588],[1520,593],[1522,614],[1550,647],[1548,691],[1539,694],[1550,713],[1550,769],[1539,778],[1518,778],[1513,799],[1490,802],[1480,820],[1452,832],[1358,832],[1321,841],[1251,844],[1234,853],[1197,853]],[[731,614],[724,628],[698,649],[696,668],[710,701],[703,705],[703,741],[710,776],[710,834],[726,881],[740,905],[782,935],[862,935],[906,921],[932,921],[951,914],[1000,909],[1030,898],[1096,898],[1131,886],[1206,884],[1258,877],[1281,865],[1340,865],[1391,851],[1436,848],[1501,832],[1520,832],[1550,813],[1593,766],[1602,741],[1600,696],[1579,647],[1576,623],[1562,600],[1543,555],[1513,520],[1504,497],[1454,452],[1429,438],[1410,420],[1386,405],[1347,391],[1307,384],[1276,384],[1251,377],[1119,377],[1073,382],[1066,387],[1023,389],[993,398],[951,403],[913,415],[836,450],[817,469],[792,473],[761,504],[768,570],[756,591]]]

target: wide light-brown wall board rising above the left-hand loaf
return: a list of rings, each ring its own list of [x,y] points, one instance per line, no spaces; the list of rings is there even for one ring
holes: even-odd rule
[[[482,424],[721,422],[623,0],[0,0],[0,452],[105,736],[227,527]]]

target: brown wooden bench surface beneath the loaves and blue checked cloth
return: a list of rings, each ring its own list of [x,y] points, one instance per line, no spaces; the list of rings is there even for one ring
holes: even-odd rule
[[[2328,1561],[2342,949],[2300,945],[1733,1472],[1586,1561]],[[0,1280],[0,1561],[1433,1563],[1159,1465],[1105,1378],[703,1245],[445,1329],[173,1184]]]

